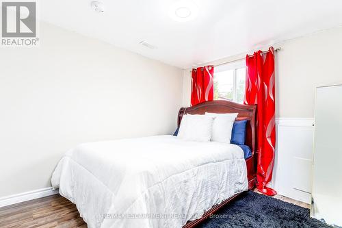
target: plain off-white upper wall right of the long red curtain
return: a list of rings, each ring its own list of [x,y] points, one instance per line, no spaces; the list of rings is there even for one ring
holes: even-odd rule
[[[278,116],[314,116],[315,88],[341,84],[342,27],[289,40],[277,55]]]

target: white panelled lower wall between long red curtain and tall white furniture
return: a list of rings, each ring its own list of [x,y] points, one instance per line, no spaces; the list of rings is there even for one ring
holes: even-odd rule
[[[311,202],[314,118],[276,119],[272,186],[278,194]]]

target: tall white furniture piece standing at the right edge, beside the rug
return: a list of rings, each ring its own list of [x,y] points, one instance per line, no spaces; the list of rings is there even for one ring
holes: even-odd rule
[[[316,89],[311,216],[342,227],[342,85]]]

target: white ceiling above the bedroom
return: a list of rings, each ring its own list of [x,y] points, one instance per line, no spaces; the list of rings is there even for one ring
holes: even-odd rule
[[[174,1],[102,0],[105,12],[96,13],[88,0],[44,0],[39,14],[43,21],[180,68],[342,25],[341,0],[193,0],[198,15],[183,22],[169,16]]]

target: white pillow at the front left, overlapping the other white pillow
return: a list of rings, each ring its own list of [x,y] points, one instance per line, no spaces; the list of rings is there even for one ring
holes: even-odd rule
[[[182,118],[177,136],[187,141],[209,142],[213,120],[213,116],[186,114]]]

